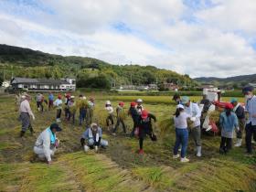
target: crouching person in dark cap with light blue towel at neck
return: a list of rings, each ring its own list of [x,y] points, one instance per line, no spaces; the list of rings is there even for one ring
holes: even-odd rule
[[[46,159],[48,164],[51,164],[51,157],[59,147],[59,139],[56,137],[56,133],[61,130],[59,124],[52,123],[37,137],[34,153],[37,154],[40,159]]]

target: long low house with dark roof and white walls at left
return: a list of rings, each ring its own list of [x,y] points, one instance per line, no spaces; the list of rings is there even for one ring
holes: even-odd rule
[[[13,90],[27,91],[75,91],[75,79],[29,79],[29,78],[14,78],[11,80]]]

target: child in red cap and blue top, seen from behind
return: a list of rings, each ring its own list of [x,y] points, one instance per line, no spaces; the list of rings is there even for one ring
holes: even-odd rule
[[[219,125],[221,127],[220,154],[229,152],[232,148],[234,130],[239,131],[238,117],[235,112],[232,112],[233,108],[231,103],[226,104],[225,112],[221,112],[219,116]]]

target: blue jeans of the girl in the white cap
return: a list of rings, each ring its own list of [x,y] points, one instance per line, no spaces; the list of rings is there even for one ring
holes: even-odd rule
[[[176,144],[174,147],[174,155],[177,155],[178,147],[181,144],[181,157],[184,158],[187,154],[188,130],[176,128]]]

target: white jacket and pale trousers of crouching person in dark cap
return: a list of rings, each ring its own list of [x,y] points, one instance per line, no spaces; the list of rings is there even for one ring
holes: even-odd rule
[[[48,128],[43,131],[42,133],[39,134],[39,136],[37,137],[37,142],[35,144],[34,149],[38,149],[38,150],[34,150],[36,151],[42,151],[43,154],[46,156],[48,161],[51,161],[51,154],[52,154],[52,150],[50,149],[50,133],[48,132]],[[37,153],[37,152],[36,152]]]

